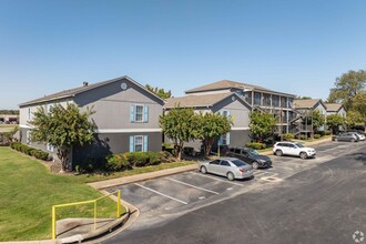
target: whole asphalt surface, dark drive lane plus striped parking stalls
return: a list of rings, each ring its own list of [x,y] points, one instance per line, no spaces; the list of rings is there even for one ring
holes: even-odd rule
[[[123,186],[141,218],[103,243],[356,243],[366,234],[366,143],[316,149],[314,160],[273,157],[261,173],[279,181],[228,185],[186,172]]]

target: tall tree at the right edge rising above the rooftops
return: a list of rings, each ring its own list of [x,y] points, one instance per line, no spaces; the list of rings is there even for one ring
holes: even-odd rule
[[[343,103],[346,110],[352,109],[353,98],[365,89],[366,71],[348,71],[336,79],[335,88],[331,89],[327,102]]]

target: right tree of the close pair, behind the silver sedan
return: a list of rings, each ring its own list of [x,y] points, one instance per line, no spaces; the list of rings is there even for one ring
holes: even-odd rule
[[[209,156],[214,141],[231,131],[233,121],[220,113],[200,113],[199,119],[199,138],[203,141],[204,152]]]

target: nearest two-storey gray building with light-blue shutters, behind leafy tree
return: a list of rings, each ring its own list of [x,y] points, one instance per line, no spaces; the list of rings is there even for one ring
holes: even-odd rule
[[[98,126],[92,144],[72,149],[73,163],[93,161],[111,153],[161,151],[162,131],[159,116],[164,100],[148,91],[129,77],[102,81],[61,91],[20,104],[20,141],[53,154],[52,145],[32,143],[28,121],[39,106],[49,110],[53,104],[75,103],[81,111],[92,108]],[[57,159],[57,157],[55,157]]]

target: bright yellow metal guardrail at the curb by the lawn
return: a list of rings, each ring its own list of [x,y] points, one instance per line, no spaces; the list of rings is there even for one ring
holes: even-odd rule
[[[52,206],[52,238],[55,240],[55,210],[58,207],[64,207],[64,206],[75,206],[75,205],[83,205],[83,204],[91,204],[91,203],[94,203],[94,230],[96,230],[96,202],[102,200],[102,199],[105,199],[105,197],[109,197],[113,194],[116,193],[116,217],[120,217],[121,216],[121,191],[118,190],[115,192],[112,192],[108,195],[104,195],[104,196],[101,196],[96,200],[90,200],[90,201],[84,201],[84,202],[75,202],[75,203],[65,203],[65,204],[59,204],[59,205],[53,205]]]

